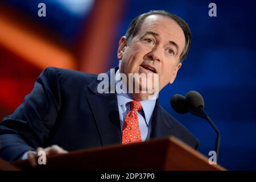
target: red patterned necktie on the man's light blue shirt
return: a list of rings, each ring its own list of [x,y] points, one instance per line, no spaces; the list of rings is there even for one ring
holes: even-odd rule
[[[139,101],[131,101],[130,111],[123,122],[122,144],[141,142],[141,131],[139,130],[139,119],[137,111],[142,109]]]

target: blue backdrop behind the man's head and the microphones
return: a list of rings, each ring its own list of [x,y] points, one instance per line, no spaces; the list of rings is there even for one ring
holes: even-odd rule
[[[217,17],[208,5],[217,5]],[[117,35],[125,34],[135,16],[167,10],[187,21],[192,46],[177,78],[160,93],[160,103],[200,139],[200,151],[214,150],[216,134],[207,121],[176,114],[170,97],[200,92],[205,110],[221,131],[219,163],[228,169],[256,169],[256,15],[255,1],[128,1]],[[114,49],[117,50],[117,47]],[[112,67],[117,65],[116,51]]]

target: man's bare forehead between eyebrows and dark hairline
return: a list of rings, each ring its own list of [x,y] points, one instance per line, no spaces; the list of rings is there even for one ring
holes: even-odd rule
[[[185,46],[184,32],[173,19],[162,15],[147,16],[139,28],[138,35],[143,35],[147,31],[154,31],[167,41],[173,40],[180,47]]]

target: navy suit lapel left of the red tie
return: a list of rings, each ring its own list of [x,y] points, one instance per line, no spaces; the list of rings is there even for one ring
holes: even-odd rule
[[[110,78],[110,72],[107,73]],[[102,146],[121,143],[121,127],[115,93],[97,92],[100,81],[94,80],[88,88],[93,94],[86,96],[101,135]]]

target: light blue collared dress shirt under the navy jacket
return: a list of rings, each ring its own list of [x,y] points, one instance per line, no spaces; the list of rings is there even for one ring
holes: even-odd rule
[[[120,73],[119,70],[115,73],[115,85],[117,82],[120,81]],[[130,104],[129,102],[134,101],[133,96],[130,93],[126,92],[126,87],[121,88],[123,93],[117,93],[117,104],[119,110],[119,119],[121,124],[121,133],[123,131],[123,121],[130,111]],[[150,100],[140,101],[142,105],[142,109],[138,111],[138,118],[139,118],[139,129],[141,130],[141,138],[142,141],[148,140],[150,138],[150,133],[152,129],[152,113],[155,108],[156,97],[151,98]]]

